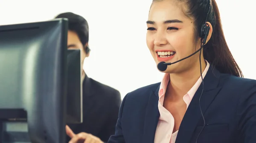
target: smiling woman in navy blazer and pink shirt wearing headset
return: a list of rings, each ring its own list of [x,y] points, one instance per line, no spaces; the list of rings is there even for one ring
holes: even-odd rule
[[[153,0],[147,26],[155,63],[176,63],[125,96],[108,143],[255,143],[256,81],[242,78],[215,0]]]

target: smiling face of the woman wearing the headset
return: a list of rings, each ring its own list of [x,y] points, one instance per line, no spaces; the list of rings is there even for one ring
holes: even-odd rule
[[[146,42],[156,64],[175,62],[200,48],[195,42],[194,24],[185,16],[186,9],[176,0],[153,2],[148,15]],[[165,73],[181,73],[199,63],[199,52],[176,64],[169,65]]]

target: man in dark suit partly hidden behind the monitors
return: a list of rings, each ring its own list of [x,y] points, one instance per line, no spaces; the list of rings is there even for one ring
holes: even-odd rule
[[[67,47],[81,50],[81,69],[84,59],[90,55],[88,46],[89,28],[87,21],[71,12],[59,14],[55,18],[67,18]],[[89,78],[84,70],[83,77],[83,123],[69,124],[75,134],[85,132],[88,143],[107,142],[115,133],[121,96],[119,91]],[[67,137],[67,143],[70,137]],[[86,142],[87,143],[87,142]]]

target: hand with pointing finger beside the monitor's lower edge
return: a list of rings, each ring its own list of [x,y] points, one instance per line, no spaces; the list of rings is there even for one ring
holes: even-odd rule
[[[71,138],[69,143],[103,143],[102,140],[99,139],[99,137],[95,137],[94,135],[85,132],[75,134],[67,125],[66,133]]]

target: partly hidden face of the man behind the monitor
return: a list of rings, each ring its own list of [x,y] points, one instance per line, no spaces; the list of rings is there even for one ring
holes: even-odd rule
[[[87,45],[85,45],[87,46]],[[81,50],[81,70],[83,71],[84,59],[89,56],[84,50],[84,46],[79,40],[79,36],[76,32],[68,31],[67,33],[67,48],[68,49],[80,49]]]

